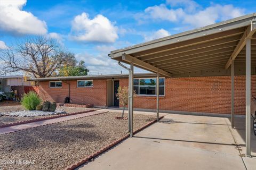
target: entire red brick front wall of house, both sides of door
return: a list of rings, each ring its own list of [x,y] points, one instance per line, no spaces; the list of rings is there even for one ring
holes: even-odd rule
[[[93,80],[92,88],[77,88],[76,80],[67,83],[73,103],[107,106],[107,79]],[[119,79],[119,86],[128,86],[128,79]],[[256,96],[256,75],[252,76],[251,89]],[[41,81],[39,95],[44,100],[63,102],[68,96],[68,84],[62,82],[62,88],[49,88],[49,81]],[[156,96],[135,96],[134,108],[156,109]],[[159,109],[230,114],[231,77],[166,78]],[[245,76],[235,77],[235,114],[245,114]]]

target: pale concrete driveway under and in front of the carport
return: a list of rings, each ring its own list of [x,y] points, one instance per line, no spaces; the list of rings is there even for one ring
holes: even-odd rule
[[[245,120],[167,114],[163,120],[126,139],[78,169],[256,169],[256,138],[252,133],[253,158],[245,158]]]

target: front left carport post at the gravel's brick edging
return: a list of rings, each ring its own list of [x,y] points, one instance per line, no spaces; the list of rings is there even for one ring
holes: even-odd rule
[[[133,136],[133,63],[130,63],[130,137]]]

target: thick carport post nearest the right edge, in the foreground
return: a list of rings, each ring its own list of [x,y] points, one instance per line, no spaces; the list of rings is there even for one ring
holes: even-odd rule
[[[246,156],[251,156],[251,39],[246,38]]]

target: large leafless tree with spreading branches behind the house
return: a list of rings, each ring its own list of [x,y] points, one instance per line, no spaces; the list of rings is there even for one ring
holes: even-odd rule
[[[63,65],[76,65],[75,56],[57,40],[49,37],[26,37],[0,51],[4,73],[25,71],[35,78],[51,77]]]

